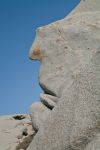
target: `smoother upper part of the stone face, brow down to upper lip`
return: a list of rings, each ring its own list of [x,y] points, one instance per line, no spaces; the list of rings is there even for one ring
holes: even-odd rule
[[[41,61],[39,79],[45,93],[61,97],[77,71],[88,64],[99,49],[99,20],[99,12],[78,14],[37,30],[30,57]]]

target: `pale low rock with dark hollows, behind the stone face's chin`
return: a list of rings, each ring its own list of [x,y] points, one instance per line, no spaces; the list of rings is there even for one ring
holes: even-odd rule
[[[0,150],[25,150],[34,133],[29,115],[0,116]]]

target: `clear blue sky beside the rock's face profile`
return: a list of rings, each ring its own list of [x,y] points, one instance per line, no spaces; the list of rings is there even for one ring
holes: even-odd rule
[[[0,114],[39,100],[40,63],[28,58],[35,29],[64,18],[80,0],[0,0]]]

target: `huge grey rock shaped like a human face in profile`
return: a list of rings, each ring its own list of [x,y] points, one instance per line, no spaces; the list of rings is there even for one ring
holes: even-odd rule
[[[99,0],[81,1],[68,17],[37,29],[29,56],[41,61],[39,103],[49,112],[36,114],[45,117],[39,126],[33,115],[38,131],[28,150],[100,150],[99,8]]]

